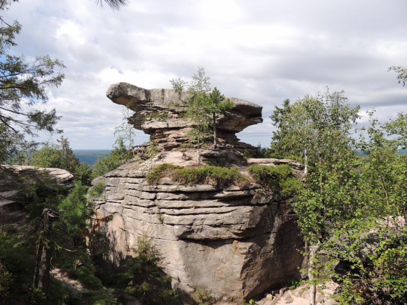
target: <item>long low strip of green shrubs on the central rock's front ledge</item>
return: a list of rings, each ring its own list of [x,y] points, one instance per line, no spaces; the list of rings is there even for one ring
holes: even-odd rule
[[[183,168],[178,165],[161,164],[147,176],[149,184],[158,184],[162,177],[170,177],[182,185],[195,185],[209,183],[215,187],[227,187],[232,184],[247,184],[246,176],[239,172],[237,167],[224,168],[218,166],[205,166],[203,168]]]

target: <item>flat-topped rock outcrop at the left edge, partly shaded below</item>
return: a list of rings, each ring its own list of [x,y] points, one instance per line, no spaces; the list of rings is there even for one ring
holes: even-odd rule
[[[26,212],[14,201],[14,197],[18,191],[24,189],[27,182],[35,179],[42,179],[44,172],[48,173],[51,181],[56,185],[62,186],[65,190],[72,189],[74,184],[74,176],[64,169],[59,168],[42,168],[35,166],[19,166],[19,165],[0,165],[0,220],[4,224],[22,224],[26,222]],[[17,182],[18,174],[24,173],[26,179],[24,182]],[[50,188],[54,185],[50,185]]]

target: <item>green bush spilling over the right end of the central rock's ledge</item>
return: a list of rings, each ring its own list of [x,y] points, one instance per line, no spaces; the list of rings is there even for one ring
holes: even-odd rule
[[[268,165],[250,165],[247,171],[263,186],[280,188],[281,196],[294,195],[302,187],[302,182],[293,175],[292,168],[287,164],[276,167]]]

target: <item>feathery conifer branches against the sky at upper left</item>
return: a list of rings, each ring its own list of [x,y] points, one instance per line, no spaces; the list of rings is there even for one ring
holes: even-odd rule
[[[9,6],[15,2],[18,1],[1,0],[0,10],[7,16]],[[38,144],[26,140],[26,136],[62,132],[55,128],[60,119],[55,109],[47,112],[36,106],[48,101],[48,88],[61,85],[65,78],[61,70],[65,66],[61,60],[48,55],[36,56],[30,63],[24,55],[8,54],[11,47],[17,46],[14,40],[20,34],[21,25],[3,18],[0,17],[4,25],[0,28],[0,164],[7,164],[13,156]]]

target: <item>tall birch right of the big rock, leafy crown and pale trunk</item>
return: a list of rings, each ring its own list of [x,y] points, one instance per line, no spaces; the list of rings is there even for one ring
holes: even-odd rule
[[[326,208],[325,177],[330,168],[346,154],[353,154],[351,128],[359,117],[359,106],[350,107],[343,93],[312,97],[304,96],[293,105],[284,102],[271,118],[279,127],[274,137],[282,153],[299,156],[305,165],[305,187],[297,198],[296,212],[299,227],[305,238],[310,281],[310,304],[315,304],[317,282],[315,256],[326,237],[324,211]],[[312,174],[309,174],[309,173]],[[307,197],[309,194],[310,197]],[[308,251],[309,250],[309,251]]]

